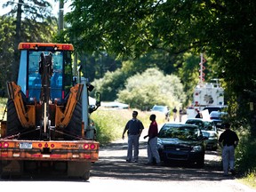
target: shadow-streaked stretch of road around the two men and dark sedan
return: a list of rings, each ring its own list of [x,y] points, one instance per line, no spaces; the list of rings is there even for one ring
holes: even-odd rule
[[[147,141],[140,142],[139,163],[127,163],[127,143],[110,143],[100,149],[100,159],[92,165],[91,177],[114,178],[116,180],[233,180],[223,177],[218,151],[206,151],[204,168],[191,164],[145,165],[147,162]]]

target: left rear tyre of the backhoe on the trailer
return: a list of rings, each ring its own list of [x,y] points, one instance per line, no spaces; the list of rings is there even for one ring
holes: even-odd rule
[[[7,128],[6,128],[6,136],[15,134],[22,130],[22,126],[20,124],[19,116],[17,114],[15,105],[13,100],[7,101]]]

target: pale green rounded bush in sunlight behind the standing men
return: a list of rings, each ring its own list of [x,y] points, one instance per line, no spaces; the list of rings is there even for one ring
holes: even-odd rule
[[[142,74],[127,79],[124,90],[118,92],[118,99],[131,108],[149,109],[155,104],[169,107],[181,106],[185,100],[183,85],[178,76],[168,75],[156,68],[148,68]]]

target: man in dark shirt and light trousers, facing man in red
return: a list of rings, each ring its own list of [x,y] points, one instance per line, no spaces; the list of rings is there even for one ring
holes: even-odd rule
[[[132,162],[132,148],[134,149],[133,160],[138,163],[139,160],[139,139],[142,130],[144,129],[143,124],[137,119],[138,111],[132,112],[132,119],[127,122],[124,127],[122,139],[124,140],[124,133],[128,131],[128,149],[126,162]]]

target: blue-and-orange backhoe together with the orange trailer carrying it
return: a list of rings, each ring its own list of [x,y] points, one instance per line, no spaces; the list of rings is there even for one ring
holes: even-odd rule
[[[100,93],[89,108],[93,86],[73,76],[72,44],[20,43],[19,50],[18,81],[7,83],[7,120],[0,124],[1,177],[55,171],[89,180],[99,159],[90,116]]]

